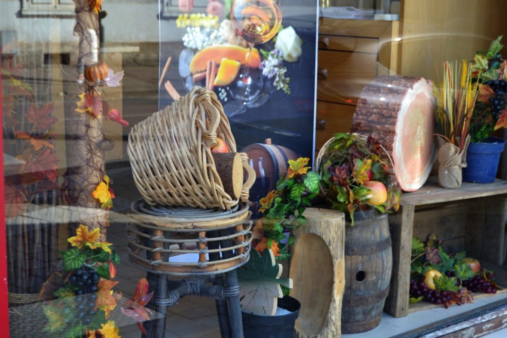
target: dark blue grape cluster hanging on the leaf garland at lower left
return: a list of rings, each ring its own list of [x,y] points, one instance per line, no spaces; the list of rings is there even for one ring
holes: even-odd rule
[[[98,280],[100,276],[95,269],[82,266],[70,276],[70,283],[77,287],[75,294],[80,296],[77,302],[77,317],[84,325],[90,324],[92,317],[95,315],[95,299],[98,290]]]

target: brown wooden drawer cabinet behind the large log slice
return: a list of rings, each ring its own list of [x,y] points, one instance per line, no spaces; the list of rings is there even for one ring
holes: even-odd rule
[[[398,21],[320,18],[315,149],[350,130],[357,99],[378,75],[395,74]]]

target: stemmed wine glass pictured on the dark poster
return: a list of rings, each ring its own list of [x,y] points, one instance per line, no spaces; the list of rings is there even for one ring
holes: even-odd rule
[[[249,43],[246,65],[231,94],[243,105],[248,105],[261,96],[263,89],[262,78],[254,80],[250,75],[253,45],[265,43],[276,35],[282,13],[277,0],[234,0],[231,22],[236,34]]]

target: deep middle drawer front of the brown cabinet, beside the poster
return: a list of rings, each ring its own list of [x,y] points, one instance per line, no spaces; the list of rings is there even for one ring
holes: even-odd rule
[[[356,105],[377,76],[377,54],[318,51],[317,100]]]

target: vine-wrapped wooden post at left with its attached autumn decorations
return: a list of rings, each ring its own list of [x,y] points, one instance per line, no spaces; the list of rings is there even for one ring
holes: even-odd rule
[[[101,85],[84,81],[84,70],[98,63],[98,8],[96,0],[76,0],[75,33],[79,48],[71,52],[71,72],[64,74],[65,141],[66,141],[66,199],[79,213],[79,220],[90,230],[100,228],[101,241],[105,240],[107,211],[92,192],[105,175]],[[92,103],[86,108],[85,98]],[[81,107],[81,106],[83,107]],[[79,108],[83,112],[79,111]],[[86,108],[86,109],[85,109]],[[87,114],[88,113],[88,114]],[[78,224],[76,224],[78,225]]]

